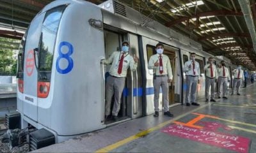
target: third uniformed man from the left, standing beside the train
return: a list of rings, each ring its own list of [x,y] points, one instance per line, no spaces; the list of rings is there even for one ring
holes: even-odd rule
[[[196,54],[190,54],[190,61],[186,61],[184,64],[183,71],[186,73],[186,106],[195,105],[199,106],[200,104],[196,103],[196,89],[197,84],[199,84],[198,76],[200,75],[200,66],[199,63],[195,61]]]

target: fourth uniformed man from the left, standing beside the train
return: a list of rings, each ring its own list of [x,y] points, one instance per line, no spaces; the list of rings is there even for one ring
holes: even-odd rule
[[[213,64],[213,58],[209,57],[208,64],[204,67],[205,71],[205,99],[206,102],[209,100],[209,89],[211,86],[211,100],[212,102],[216,102],[214,99],[215,92],[215,82],[218,77],[216,66]]]

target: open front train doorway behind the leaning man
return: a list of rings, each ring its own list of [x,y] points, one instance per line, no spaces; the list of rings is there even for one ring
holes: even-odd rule
[[[104,34],[105,33],[115,33],[118,34],[118,47],[116,48],[116,51],[120,51],[120,47],[122,44],[122,41],[127,40],[127,41],[132,41],[130,42],[130,51],[129,54],[136,54],[137,57],[139,57],[140,59],[140,55],[139,55],[139,38],[136,34],[131,34],[127,31],[123,31],[122,29],[118,29],[116,27],[112,27],[111,25],[104,25]],[[106,38],[104,36],[104,43],[105,43],[105,54],[107,54],[108,50],[106,48]],[[136,43],[136,44],[135,44]],[[111,51],[112,53],[113,51]],[[115,52],[115,50],[114,50]],[[111,54],[109,54],[111,55]],[[107,55],[105,55],[106,57]],[[108,59],[108,57],[106,57],[106,59]],[[141,60],[140,60],[141,61]],[[138,66],[140,65],[140,61],[138,63]],[[110,66],[109,66],[110,67]],[[138,68],[137,68],[138,69]],[[106,83],[106,78],[108,77],[108,75],[106,75],[106,66],[104,66],[104,83]],[[136,86],[134,88],[134,86]],[[107,126],[111,126],[113,124],[117,124],[120,122],[124,122],[127,120],[131,120],[137,117],[141,117],[142,115],[142,104],[139,103],[138,101],[138,96],[140,96],[142,94],[140,87],[138,87],[138,71],[136,70],[135,72],[132,72],[131,69],[129,68],[127,71],[127,77],[125,79],[125,89],[123,91],[122,94],[122,98],[121,98],[121,106],[120,106],[120,111],[118,113],[118,116],[121,116],[120,119],[116,122],[113,121],[109,121],[106,122],[105,120],[105,124],[107,124]],[[136,93],[134,93],[136,92]],[[140,93],[138,93],[140,92]],[[106,93],[106,87],[104,85],[104,95]],[[138,95],[140,94],[140,95]],[[104,101],[106,101],[106,99],[104,98]],[[112,101],[113,103],[113,101]],[[136,108],[134,108],[136,106]],[[104,103],[104,108],[105,108],[105,103]],[[111,106],[112,108],[112,106]],[[112,110],[112,109],[111,109]]]

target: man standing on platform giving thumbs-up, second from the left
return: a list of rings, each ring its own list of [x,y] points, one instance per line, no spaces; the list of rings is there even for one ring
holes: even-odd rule
[[[163,105],[164,105],[164,115],[168,117],[173,117],[173,114],[169,112],[169,85],[172,82],[172,67],[170,59],[167,55],[163,54],[164,45],[162,43],[157,43],[156,52],[157,54],[152,55],[148,61],[148,69],[153,69],[154,71],[154,117],[159,116],[159,91],[160,87],[163,91]]]

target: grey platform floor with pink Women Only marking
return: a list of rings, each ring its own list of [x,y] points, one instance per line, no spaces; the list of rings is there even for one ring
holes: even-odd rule
[[[33,152],[256,152],[256,84],[200,106],[170,108]]]

